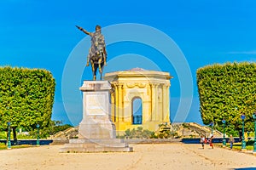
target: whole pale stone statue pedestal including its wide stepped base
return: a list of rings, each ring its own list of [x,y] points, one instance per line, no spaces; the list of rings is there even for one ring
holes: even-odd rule
[[[79,139],[70,139],[61,152],[132,151],[128,144],[116,139],[111,121],[108,81],[84,81],[83,120],[79,123]]]

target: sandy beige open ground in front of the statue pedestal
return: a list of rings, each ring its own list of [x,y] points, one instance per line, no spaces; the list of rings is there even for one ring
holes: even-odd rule
[[[59,153],[62,145],[0,150],[0,169],[242,169],[255,167],[256,156],[200,144],[131,144],[134,152]]]

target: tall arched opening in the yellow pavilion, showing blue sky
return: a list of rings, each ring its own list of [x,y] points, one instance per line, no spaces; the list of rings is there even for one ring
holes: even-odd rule
[[[143,100],[141,98],[134,98],[132,100],[132,124],[143,123]]]

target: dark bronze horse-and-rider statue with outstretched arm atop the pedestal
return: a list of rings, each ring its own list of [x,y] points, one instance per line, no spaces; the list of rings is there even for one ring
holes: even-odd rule
[[[80,26],[76,26],[80,31],[83,31],[85,34],[89,35],[90,38],[90,50],[87,56],[87,64],[89,66],[89,62],[91,65],[93,80],[96,80],[96,71],[99,69],[102,80],[102,70],[104,65],[107,65],[107,52],[106,52],[106,44],[105,38],[102,35],[102,27],[96,26],[95,32],[89,32],[84,30],[84,28]]]

